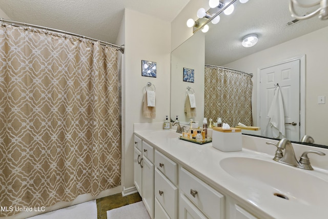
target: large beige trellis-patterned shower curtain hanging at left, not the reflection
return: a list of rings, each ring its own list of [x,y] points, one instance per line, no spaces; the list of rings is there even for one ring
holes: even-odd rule
[[[47,207],[120,184],[118,79],[114,48],[0,26],[0,206]]]

